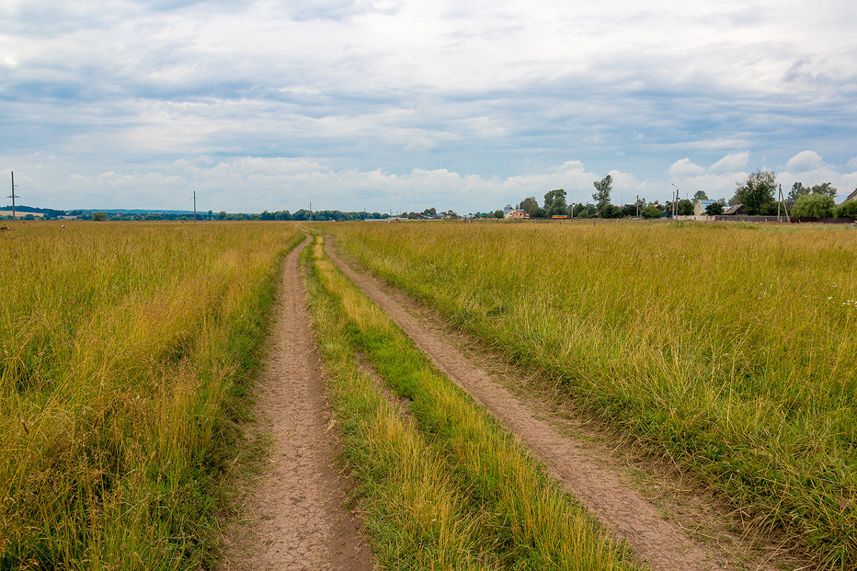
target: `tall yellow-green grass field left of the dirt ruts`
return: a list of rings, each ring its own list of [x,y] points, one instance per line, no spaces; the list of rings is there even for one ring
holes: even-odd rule
[[[0,234],[0,568],[188,569],[285,224],[15,223]]]

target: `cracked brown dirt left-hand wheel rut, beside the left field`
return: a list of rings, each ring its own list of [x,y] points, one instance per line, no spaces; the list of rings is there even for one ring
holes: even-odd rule
[[[248,556],[230,568],[369,570],[363,526],[343,505],[345,479],[334,465],[321,360],[310,329],[296,247],[283,264],[271,347],[259,381],[262,431],[273,437],[270,466],[253,493],[258,520]]]

